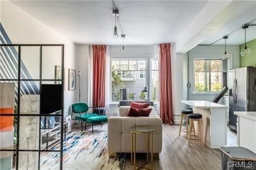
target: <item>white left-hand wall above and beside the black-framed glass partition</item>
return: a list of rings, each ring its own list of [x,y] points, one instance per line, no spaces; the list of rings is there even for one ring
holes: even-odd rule
[[[69,112],[69,106],[75,103],[75,91],[68,91],[68,69],[76,69],[75,63],[75,44],[60,35],[58,32],[49,28],[47,25],[39,22],[25,11],[13,5],[9,1],[0,1],[1,3],[1,23],[10,37],[13,44],[64,44],[65,45],[65,91],[64,91],[64,115]],[[35,50],[36,51],[36,50]],[[46,50],[45,50],[46,52]],[[56,54],[57,56],[58,54]],[[55,54],[53,55],[55,56]],[[49,56],[49,64],[55,65],[52,57]],[[26,60],[24,58],[24,60]],[[52,61],[52,62],[51,62]],[[31,65],[34,60],[25,62],[26,66],[33,70]],[[54,63],[54,64],[53,64]],[[57,63],[57,62],[56,62]],[[59,64],[59,63],[58,63]],[[54,72],[54,67],[48,68],[51,75]],[[31,73],[34,75],[33,73]],[[47,75],[47,74],[45,74]],[[49,75],[49,74],[48,74]],[[53,74],[54,75],[54,74]]]

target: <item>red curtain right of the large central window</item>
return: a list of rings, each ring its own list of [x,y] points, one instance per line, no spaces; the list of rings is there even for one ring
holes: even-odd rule
[[[171,44],[159,44],[159,101],[163,124],[172,125]]]

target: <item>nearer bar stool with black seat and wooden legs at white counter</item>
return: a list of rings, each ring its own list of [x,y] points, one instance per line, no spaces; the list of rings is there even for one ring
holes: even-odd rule
[[[192,113],[192,114],[188,114],[187,115],[188,119],[189,119],[189,134],[188,134],[188,145],[190,145],[191,143],[191,137],[194,137],[193,139],[196,139],[196,140],[200,140],[200,143],[201,145],[203,144],[202,142],[202,138],[201,138],[201,135],[202,135],[202,129],[201,129],[201,121],[200,119],[202,118],[202,114],[199,114],[199,113]],[[194,121],[197,121],[197,124],[198,124],[198,131],[199,131],[199,135],[196,135],[195,134],[195,126],[194,126]],[[194,129],[194,135],[191,135],[191,130],[192,130],[192,126],[193,126],[193,129]]]

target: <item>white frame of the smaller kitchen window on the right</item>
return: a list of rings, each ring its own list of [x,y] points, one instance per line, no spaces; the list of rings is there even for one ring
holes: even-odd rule
[[[221,63],[222,63],[222,70],[221,71],[195,71],[195,61],[196,60],[204,60],[204,61],[209,61],[209,60],[220,60]],[[223,61],[221,58],[193,58],[193,62],[192,62],[192,65],[193,65],[193,89],[192,89],[192,94],[200,94],[200,95],[203,95],[203,94],[218,94],[220,91],[211,91],[211,74],[210,73],[221,73],[221,78],[223,76]],[[205,64],[205,70],[206,69],[207,65]],[[204,92],[197,92],[196,91],[196,87],[195,87],[195,73],[205,73],[205,89],[206,91]],[[207,76],[207,73],[209,73],[209,91],[207,91],[207,79],[208,79],[208,76]],[[223,86],[223,82],[222,82],[222,79],[221,79],[221,87]]]

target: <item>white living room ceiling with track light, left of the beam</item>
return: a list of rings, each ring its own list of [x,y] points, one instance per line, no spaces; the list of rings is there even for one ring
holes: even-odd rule
[[[122,44],[113,38],[112,1],[11,1],[77,44]],[[125,44],[175,42],[208,1],[115,1]]]

